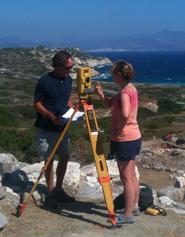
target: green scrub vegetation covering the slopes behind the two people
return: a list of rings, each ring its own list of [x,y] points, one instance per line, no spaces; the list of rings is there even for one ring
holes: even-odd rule
[[[79,50],[69,51],[75,57],[88,57]],[[33,92],[39,77],[51,70],[54,53],[42,46],[0,49],[0,152],[12,153],[20,161],[33,163],[37,158]],[[73,93],[75,86],[74,81]],[[103,83],[103,87],[108,95],[118,90],[112,83]],[[140,97],[138,120],[143,138],[161,138],[168,133],[184,136],[185,87],[137,85],[137,88]],[[105,154],[108,154],[110,116],[104,116],[107,110],[96,95],[92,95],[92,100],[103,131]],[[157,110],[149,108],[149,102]],[[73,124],[70,134],[72,160],[89,162],[92,153],[85,121]]]

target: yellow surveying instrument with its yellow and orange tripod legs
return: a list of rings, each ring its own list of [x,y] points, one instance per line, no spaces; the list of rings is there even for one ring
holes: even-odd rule
[[[108,210],[108,217],[111,222],[111,224],[115,227],[116,226],[116,217],[114,212],[114,205],[113,205],[113,197],[112,197],[112,189],[110,185],[110,177],[108,174],[108,168],[105,160],[105,155],[103,151],[103,144],[101,141],[101,132],[98,126],[96,113],[94,111],[93,104],[91,102],[91,97],[89,96],[89,93],[91,91],[91,74],[90,74],[90,68],[84,67],[79,68],[77,71],[77,90],[79,95],[79,103],[76,105],[70,119],[68,120],[68,123],[66,124],[63,132],[59,136],[55,146],[53,147],[44,167],[42,168],[39,177],[37,178],[36,183],[33,185],[29,195],[27,196],[26,200],[19,204],[17,207],[17,216],[19,217],[24,209],[27,206],[27,202],[32,196],[33,192],[35,191],[39,180],[47,170],[47,167],[50,163],[50,161],[53,159],[60,143],[62,142],[67,130],[69,129],[73,117],[75,116],[76,111],[79,109],[79,107],[82,107],[84,114],[85,114],[85,120],[86,120],[86,126],[89,133],[90,143],[92,147],[93,156],[95,159],[95,165],[96,170],[98,174],[98,181],[102,186],[103,189],[103,195],[105,204]]]

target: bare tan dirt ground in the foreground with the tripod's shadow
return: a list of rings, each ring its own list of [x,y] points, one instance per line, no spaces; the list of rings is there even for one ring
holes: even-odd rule
[[[142,213],[135,224],[113,230],[102,204],[68,204],[61,213],[31,205],[20,218],[11,215],[9,222],[1,237],[185,237],[185,217],[178,217],[170,211],[166,217]]]

